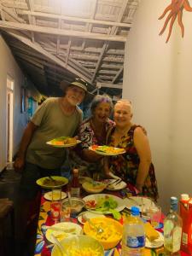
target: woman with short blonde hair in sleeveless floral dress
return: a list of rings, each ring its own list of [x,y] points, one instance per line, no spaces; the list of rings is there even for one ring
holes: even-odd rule
[[[108,132],[108,144],[125,148],[125,154],[107,158],[105,172],[108,177],[116,175],[134,185],[141,194],[158,198],[154,166],[145,129],[132,123],[132,105],[128,100],[119,100],[114,105],[114,122]]]

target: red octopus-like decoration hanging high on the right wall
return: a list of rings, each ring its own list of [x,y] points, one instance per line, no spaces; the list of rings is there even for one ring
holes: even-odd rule
[[[169,15],[167,15],[166,17],[164,26],[160,31],[160,36],[163,34],[163,32],[165,32],[166,26],[168,22],[171,20],[169,25],[168,36],[166,38],[166,43],[169,41],[169,38],[172,34],[172,26],[176,18],[177,18],[178,25],[181,27],[182,38],[184,36],[184,26],[182,21],[183,9],[185,9],[186,11],[192,12],[192,8],[190,7],[188,0],[172,0],[172,3],[166,7],[166,9],[164,10],[164,13],[160,16],[159,20],[163,19],[165,15],[169,12]]]

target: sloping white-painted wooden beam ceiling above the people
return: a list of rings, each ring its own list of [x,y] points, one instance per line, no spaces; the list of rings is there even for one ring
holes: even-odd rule
[[[3,37],[38,90],[78,77],[119,95],[125,41],[139,0],[0,0]]]

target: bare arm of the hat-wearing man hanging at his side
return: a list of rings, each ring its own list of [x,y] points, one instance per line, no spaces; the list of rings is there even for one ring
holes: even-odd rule
[[[22,170],[24,164],[25,164],[25,158],[26,158],[26,149],[31,142],[32,136],[34,131],[37,129],[37,125],[34,125],[32,122],[29,122],[26,125],[26,129],[23,133],[23,136],[21,138],[20,142],[20,148],[16,156],[15,160],[15,170],[20,171]]]

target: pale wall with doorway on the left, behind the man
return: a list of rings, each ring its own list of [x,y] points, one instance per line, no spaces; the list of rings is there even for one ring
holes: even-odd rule
[[[24,77],[8,45],[0,34],[0,172],[6,166],[6,94],[7,75],[14,79],[14,135],[13,154],[19,147],[20,137],[27,123],[27,113],[20,113],[20,86],[26,85],[28,95],[38,99],[40,96],[32,83]]]

